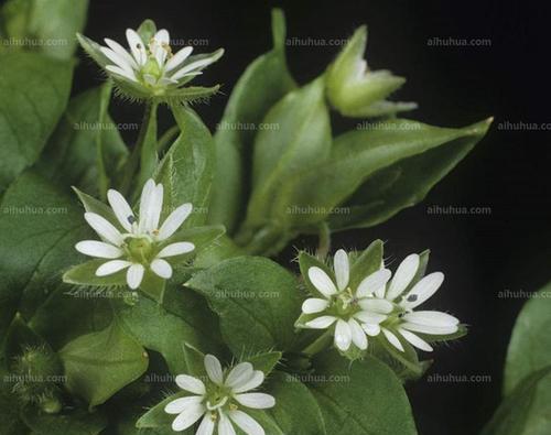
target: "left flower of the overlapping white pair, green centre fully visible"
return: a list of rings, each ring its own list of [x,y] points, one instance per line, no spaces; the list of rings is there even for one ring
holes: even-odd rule
[[[365,278],[356,289],[349,284],[350,267],[348,254],[339,249],[334,258],[335,281],[324,270],[312,267],[307,271],[310,282],[323,295],[304,301],[305,315],[322,314],[304,324],[305,327],[325,329],[335,325],[335,346],[346,351],[354,344],[360,350],[367,349],[367,336],[380,333],[379,324],[387,319],[393,304],[375,300],[371,295],[385,287],[390,271],[380,269]]]

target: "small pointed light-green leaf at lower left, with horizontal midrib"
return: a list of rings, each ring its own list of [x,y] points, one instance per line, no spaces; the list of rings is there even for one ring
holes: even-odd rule
[[[83,335],[60,350],[66,388],[89,403],[104,403],[148,368],[148,354],[114,322],[108,328]]]

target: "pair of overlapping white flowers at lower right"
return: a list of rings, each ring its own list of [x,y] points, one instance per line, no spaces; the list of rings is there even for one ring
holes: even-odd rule
[[[304,301],[304,314],[318,314],[304,326],[325,329],[336,323],[334,341],[342,351],[348,350],[352,344],[365,350],[368,347],[368,336],[376,337],[381,333],[400,351],[404,349],[399,336],[421,350],[432,351],[431,345],[419,334],[454,334],[460,320],[446,313],[414,311],[444,281],[442,272],[434,272],[411,286],[419,267],[419,255],[411,254],[398,267],[392,280],[391,272],[382,267],[366,276],[357,287],[350,289],[348,254],[338,250],[334,258],[335,280],[317,267],[307,271],[310,282],[324,298],[312,297]]]

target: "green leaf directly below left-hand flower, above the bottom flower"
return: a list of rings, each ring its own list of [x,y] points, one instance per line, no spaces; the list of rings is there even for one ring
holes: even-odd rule
[[[203,297],[173,279],[168,285],[164,306],[140,297],[134,305],[117,304],[120,324],[145,348],[160,352],[171,373],[190,372],[184,344],[203,352],[222,352],[218,319]]]

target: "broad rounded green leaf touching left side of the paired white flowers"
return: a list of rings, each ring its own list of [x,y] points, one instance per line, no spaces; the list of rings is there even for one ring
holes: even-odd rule
[[[234,355],[285,350],[295,339],[293,323],[301,312],[296,280],[268,259],[223,261],[197,273],[186,286],[207,297]]]

